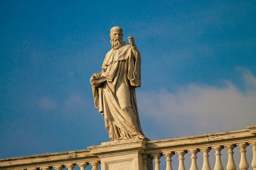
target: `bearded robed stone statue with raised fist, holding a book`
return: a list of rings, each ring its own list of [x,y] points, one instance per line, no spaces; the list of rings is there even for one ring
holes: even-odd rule
[[[121,139],[148,140],[140,126],[135,88],[140,87],[140,51],[134,38],[123,41],[122,28],[110,30],[112,49],[108,51],[102,72],[90,79],[95,107],[105,118],[111,141]]]

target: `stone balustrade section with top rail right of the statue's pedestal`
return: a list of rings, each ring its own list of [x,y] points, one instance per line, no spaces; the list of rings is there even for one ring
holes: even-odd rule
[[[209,151],[215,151],[214,170],[224,170],[221,162],[221,150],[226,147],[228,152],[227,170],[236,170],[236,164],[233,158],[233,149],[240,148],[240,170],[248,170],[249,163],[246,158],[246,147],[253,147],[253,159],[250,160],[251,167],[256,170],[256,126],[249,126],[246,130],[236,130],[224,133],[212,133],[201,136],[191,136],[177,139],[166,139],[161,141],[151,141],[147,143],[146,153],[151,153],[155,159],[155,170],[160,170],[159,157],[162,153],[166,156],[166,170],[172,170],[172,155],[178,155],[178,170],[185,170],[184,155],[191,153],[191,167],[189,170],[199,170],[197,165],[197,153],[203,153],[203,165],[201,170],[211,170],[209,164]],[[166,155],[165,153],[168,153]],[[157,157],[155,155],[158,155]],[[168,162],[168,163],[167,163]]]

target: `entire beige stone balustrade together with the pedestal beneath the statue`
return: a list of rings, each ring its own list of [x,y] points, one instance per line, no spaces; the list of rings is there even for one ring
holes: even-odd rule
[[[142,139],[103,142],[101,145],[88,147],[87,150],[1,159],[0,170],[49,170],[52,167],[61,170],[64,166],[71,170],[74,165],[84,170],[88,164],[93,166],[93,170],[97,170],[99,163],[101,170],[126,170],[128,168],[129,170],[152,170],[152,158],[154,157],[155,167],[159,168],[159,158],[162,155],[166,156],[168,170],[172,170],[171,156],[174,153],[179,156],[180,168],[182,169],[184,154],[188,151],[195,153],[198,150],[204,153],[204,167],[207,169],[209,168],[208,152],[210,149],[216,151],[215,155],[218,160],[215,167],[221,169],[223,166],[220,160],[220,150],[224,147],[228,149],[229,155],[227,169],[236,169],[233,162],[233,148],[236,146],[240,147],[241,152],[239,167],[246,169],[247,165],[250,164],[253,170],[256,170],[256,135],[251,133],[252,128],[150,142]],[[253,146],[253,160],[251,162],[245,156],[245,148],[248,144]],[[192,167],[196,167],[195,154],[193,160]],[[162,163],[165,162],[162,161]]]

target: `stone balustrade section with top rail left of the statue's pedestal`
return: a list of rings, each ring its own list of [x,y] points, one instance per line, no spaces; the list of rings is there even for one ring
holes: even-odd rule
[[[78,150],[61,153],[25,156],[0,160],[0,169],[7,170],[62,170],[67,167],[73,170],[77,165],[81,170],[91,165],[92,170],[98,170],[100,159],[91,154],[90,150]]]

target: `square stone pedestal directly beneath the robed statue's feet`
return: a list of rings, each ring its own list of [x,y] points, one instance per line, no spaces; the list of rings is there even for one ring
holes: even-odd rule
[[[100,158],[101,170],[151,170],[152,159],[143,155],[145,144],[142,139],[127,139],[103,142],[88,149]]]

